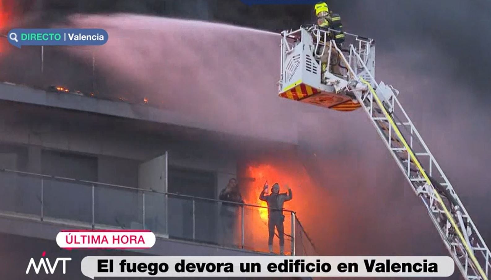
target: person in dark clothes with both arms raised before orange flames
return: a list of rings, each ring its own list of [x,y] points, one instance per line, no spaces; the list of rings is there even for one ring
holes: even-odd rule
[[[287,186],[288,188],[288,186]],[[279,184],[274,183],[273,188],[271,188],[271,195],[265,196],[265,191],[268,190],[268,184],[264,184],[264,189],[259,196],[259,199],[266,201],[268,203],[268,231],[269,239],[268,246],[270,252],[273,252],[273,237],[274,228],[278,230],[279,238],[279,251],[280,254],[285,252],[285,236],[283,229],[283,222],[285,221],[285,216],[283,215],[283,203],[292,199],[292,190],[288,188],[288,194],[279,193]]]

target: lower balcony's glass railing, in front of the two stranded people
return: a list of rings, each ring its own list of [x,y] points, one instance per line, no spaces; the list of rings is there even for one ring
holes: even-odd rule
[[[150,229],[156,236],[269,252],[267,208],[125,186],[0,169],[4,215],[92,229]],[[228,202],[230,203],[230,202]],[[295,212],[284,210],[285,254],[317,255]],[[224,223],[225,222],[225,223]],[[278,237],[274,251],[278,252]]]

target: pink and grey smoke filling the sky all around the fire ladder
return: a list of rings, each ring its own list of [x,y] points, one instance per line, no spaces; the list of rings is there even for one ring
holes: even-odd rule
[[[58,10],[159,14],[156,5],[162,4],[110,2],[116,3],[112,10],[109,1],[58,5],[63,8]],[[296,28],[312,20],[310,6],[247,7],[238,0],[217,0],[210,11],[190,12],[189,6],[194,4],[180,2],[188,3],[188,8],[174,8],[187,17],[213,14],[221,22],[266,30]],[[491,151],[487,148],[491,139],[491,111],[487,108],[491,101],[491,56],[487,51],[491,45],[491,1],[328,3],[342,15],[345,30],[376,40],[377,80],[400,90],[403,106],[490,243],[489,211],[485,209],[491,199]],[[164,96],[187,85],[186,92],[167,104],[176,110],[252,135],[281,134],[275,123],[298,120],[302,149],[316,154],[309,166],[326,201],[336,206],[319,202],[312,205],[318,207],[314,211],[305,211],[311,215],[305,227],[322,253],[445,253],[424,206],[411,193],[362,112],[333,112],[278,100],[279,53],[274,35],[148,16],[69,18],[75,26],[109,31],[108,48],[101,48],[101,74],[113,72],[116,78],[151,92],[166,89]],[[142,60],[146,61],[144,66],[139,64]],[[206,94],[196,96],[197,88]],[[194,103],[186,102],[189,97],[195,98]],[[302,211],[297,211],[301,219]]]

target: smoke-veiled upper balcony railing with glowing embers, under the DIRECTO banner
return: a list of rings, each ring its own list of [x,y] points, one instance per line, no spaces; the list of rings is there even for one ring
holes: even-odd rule
[[[23,46],[18,49],[9,45],[5,35],[0,35],[0,49],[6,47],[8,55],[0,56],[0,82],[155,108],[166,108],[168,103],[157,96],[148,98],[142,94],[140,86],[127,79],[108,79],[107,69],[99,61],[103,54],[97,52],[104,46]]]

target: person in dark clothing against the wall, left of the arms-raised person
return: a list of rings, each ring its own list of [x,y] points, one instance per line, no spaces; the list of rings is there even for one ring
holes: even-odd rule
[[[237,187],[237,180],[232,178],[228,181],[227,187],[221,190],[218,199],[223,201],[230,201],[236,203],[221,203],[220,216],[223,227],[223,243],[222,245],[232,246],[234,245],[234,229],[237,222],[237,214],[239,213],[240,205],[244,204],[239,188]]]

